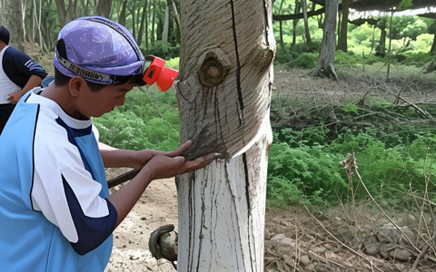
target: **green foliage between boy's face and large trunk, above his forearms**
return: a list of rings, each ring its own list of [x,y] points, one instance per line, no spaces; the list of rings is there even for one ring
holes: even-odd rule
[[[124,107],[94,118],[100,141],[131,150],[171,151],[178,147],[179,116],[174,93],[150,89],[127,93]]]

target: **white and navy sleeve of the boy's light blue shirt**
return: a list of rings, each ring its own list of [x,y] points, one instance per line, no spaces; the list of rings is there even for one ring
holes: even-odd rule
[[[60,228],[78,254],[85,254],[114,231],[116,209],[99,196],[102,185],[85,169],[64,127],[36,126],[35,135],[33,207]]]

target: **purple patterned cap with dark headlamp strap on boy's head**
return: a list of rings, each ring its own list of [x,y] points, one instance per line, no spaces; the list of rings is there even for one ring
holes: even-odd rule
[[[144,55],[121,24],[100,16],[75,19],[57,36],[54,66],[66,76],[100,84],[144,73]]]

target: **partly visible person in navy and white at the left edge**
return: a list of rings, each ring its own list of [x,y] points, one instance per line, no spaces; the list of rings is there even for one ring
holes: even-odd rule
[[[9,31],[0,26],[0,134],[16,102],[47,75],[32,58],[9,46],[9,39]]]

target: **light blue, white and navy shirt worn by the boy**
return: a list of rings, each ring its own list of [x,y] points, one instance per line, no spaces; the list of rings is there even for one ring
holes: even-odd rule
[[[104,271],[117,213],[92,121],[27,92],[0,137],[0,267]]]

